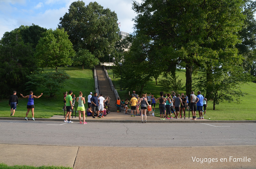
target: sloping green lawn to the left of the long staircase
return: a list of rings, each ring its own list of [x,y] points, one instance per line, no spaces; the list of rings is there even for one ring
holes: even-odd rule
[[[82,91],[83,96],[85,96],[87,99],[88,94],[94,91],[94,78],[92,69],[87,68],[82,70],[82,67],[59,67],[58,70],[65,70],[70,75],[70,79],[66,81],[65,87],[60,92],[58,92],[54,97],[46,97],[43,94],[43,96],[39,99],[34,99],[35,118],[50,118],[53,115],[63,115],[63,92],[72,90],[73,94],[75,94],[76,97],[78,97],[79,91]],[[55,71],[55,69],[44,68],[44,71]],[[38,96],[40,95],[40,93],[43,92],[43,90],[38,89],[33,92],[34,95]],[[26,96],[29,93],[22,94]],[[20,96],[20,93],[17,93],[17,96],[19,97],[19,103],[17,106],[17,110],[15,111],[15,114],[12,117],[25,117],[27,112],[28,99],[23,99]],[[10,117],[11,111],[10,107],[8,106],[8,102],[9,98],[0,101],[0,106],[2,107],[2,111],[0,114],[1,117]],[[32,117],[31,112],[29,112],[28,117]]]

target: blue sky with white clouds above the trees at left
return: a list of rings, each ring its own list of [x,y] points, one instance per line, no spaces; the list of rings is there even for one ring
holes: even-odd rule
[[[0,0],[0,38],[5,32],[15,28],[31,26],[32,23],[46,29],[56,29],[76,0]],[[85,5],[93,0],[83,0]],[[95,1],[95,0],[94,0]],[[93,2],[94,2],[93,1]],[[141,0],[136,0],[141,2]],[[115,11],[120,22],[120,31],[132,33],[136,13],[132,10],[132,0],[96,0],[103,8]]]

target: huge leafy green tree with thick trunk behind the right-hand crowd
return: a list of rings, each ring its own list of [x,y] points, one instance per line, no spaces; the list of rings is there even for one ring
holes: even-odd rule
[[[211,57],[209,50],[213,46],[215,51],[223,46],[234,48],[243,23],[242,5],[242,0],[144,0],[134,2],[132,8],[138,14],[134,19],[136,33],[148,35],[159,47],[163,52],[159,61],[186,68],[189,95],[192,72]]]

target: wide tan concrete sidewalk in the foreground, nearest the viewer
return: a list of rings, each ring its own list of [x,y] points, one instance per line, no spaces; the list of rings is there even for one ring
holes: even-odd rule
[[[255,145],[134,148],[0,144],[0,149],[0,163],[7,165],[62,165],[74,169],[256,166]]]

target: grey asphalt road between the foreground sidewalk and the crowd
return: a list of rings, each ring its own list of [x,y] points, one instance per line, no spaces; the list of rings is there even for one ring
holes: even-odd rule
[[[255,145],[256,123],[93,123],[0,120],[0,143],[183,147]]]

